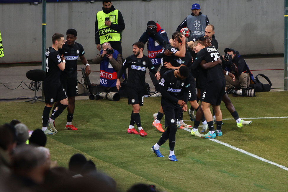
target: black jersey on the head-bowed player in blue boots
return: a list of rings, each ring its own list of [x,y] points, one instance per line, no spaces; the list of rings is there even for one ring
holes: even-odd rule
[[[187,102],[189,78],[178,79],[174,75],[175,70],[169,70],[160,78],[159,84],[161,86],[161,103],[165,102],[171,104],[175,108],[179,108],[178,100]]]

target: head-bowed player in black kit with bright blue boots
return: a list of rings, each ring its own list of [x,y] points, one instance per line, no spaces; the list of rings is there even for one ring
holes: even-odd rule
[[[161,105],[165,114],[165,127],[167,129],[161,135],[159,141],[153,145],[151,150],[157,157],[164,157],[159,148],[169,139],[170,161],[178,161],[174,154],[177,121],[183,110],[187,111],[188,87],[189,87],[189,69],[181,66],[179,69],[167,71],[159,82],[161,86]]]

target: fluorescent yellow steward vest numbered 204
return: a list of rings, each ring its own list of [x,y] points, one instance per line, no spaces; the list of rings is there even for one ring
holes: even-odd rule
[[[103,11],[99,11],[97,13],[98,20],[98,29],[99,29],[99,39],[100,44],[109,41],[120,41],[122,36],[122,31],[115,31],[110,29],[107,25],[105,25],[105,17],[109,17],[109,20],[113,24],[118,24],[118,11],[115,9],[114,11],[106,14]]]

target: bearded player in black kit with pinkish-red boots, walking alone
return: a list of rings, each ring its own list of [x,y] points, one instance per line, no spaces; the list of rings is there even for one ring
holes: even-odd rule
[[[157,80],[160,79],[160,73],[155,69],[149,57],[143,55],[144,43],[136,42],[133,44],[133,55],[126,58],[122,68],[118,71],[116,87],[119,90],[120,77],[123,72],[128,68],[127,84],[125,87],[128,104],[132,105],[131,120],[127,132],[130,134],[136,134],[140,136],[146,136],[147,133],[141,126],[141,119],[139,115],[140,106],[143,106],[144,101],[144,84],[145,84],[145,72],[146,68],[149,69]],[[136,123],[139,133],[134,129]]]

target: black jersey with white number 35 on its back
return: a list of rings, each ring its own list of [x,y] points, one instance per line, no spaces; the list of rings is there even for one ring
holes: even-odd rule
[[[195,61],[193,62],[193,65],[192,65],[192,69],[196,69],[198,65],[201,63],[201,61],[203,60],[206,61],[206,63],[208,63],[208,62],[217,61],[218,58],[219,58],[219,53],[216,48],[205,47],[197,53]],[[225,79],[221,65],[216,65],[204,71],[206,72],[207,82],[214,81],[217,79]]]

